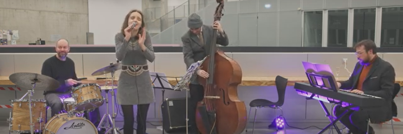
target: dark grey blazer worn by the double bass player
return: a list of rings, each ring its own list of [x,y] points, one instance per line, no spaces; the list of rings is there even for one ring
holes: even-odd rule
[[[199,37],[193,34],[191,31],[187,31],[182,36],[182,43],[183,43],[183,60],[185,60],[186,69],[189,66],[199,60],[203,60],[204,57],[209,55],[209,50],[211,47],[211,41],[213,38],[213,27],[203,25],[202,26],[202,33],[203,33],[203,40],[204,44],[200,44]],[[227,46],[228,36],[226,35],[225,31],[224,34],[217,35],[217,44]]]

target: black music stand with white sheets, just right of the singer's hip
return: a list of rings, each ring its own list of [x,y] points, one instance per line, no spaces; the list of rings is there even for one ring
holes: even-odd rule
[[[165,89],[174,90],[172,88],[173,85],[169,83],[168,78],[176,78],[178,82],[178,77],[167,77],[162,72],[150,72],[150,75],[154,89],[162,89],[162,100],[164,100]],[[162,122],[162,134],[165,134],[164,122]]]

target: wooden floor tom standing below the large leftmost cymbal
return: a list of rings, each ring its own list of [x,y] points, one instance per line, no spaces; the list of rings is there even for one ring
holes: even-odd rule
[[[10,132],[31,133],[29,126],[29,100],[11,100],[12,118],[10,120]],[[47,105],[43,99],[31,99],[32,123],[34,132],[42,132],[47,120]]]

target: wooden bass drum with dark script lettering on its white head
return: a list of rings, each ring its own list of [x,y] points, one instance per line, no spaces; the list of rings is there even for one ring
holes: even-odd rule
[[[52,117],[43,134],[98,134],[97,128],[89,120],[60,113]]]

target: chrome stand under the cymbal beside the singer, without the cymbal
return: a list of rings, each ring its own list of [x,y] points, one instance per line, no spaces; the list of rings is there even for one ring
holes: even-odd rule
[[[106,118],[106,116],[108,115],[108,120],[109,120],[109,124],[112,125],[112,128],[109,128],[108,130],[106,130],[105,134],[122,134],[122,132],[119,131],[119,128],[116,128],[115,126],[115,118],[117,113],[115,113],[115,91],[114,89],[114,80],[115,80],[115,70],[112,70],[112,72],[110,73],[112,75],[112,119],[111,116],[109,114],[109,108],[108,108],[108,91],[106,90],[106,109],[108,109],[107,114],[104,115],[104,117],[102,118],[100,124],[98,125],[98,129],[100,129],[100,126],[102,124],[102,122],[104,121],[104,119]],[[105,83],[107,82],[107,80],[105,81]],[[112,121],[112,122],[111,122]],[[111,132],[112,131],[112,132]]]

